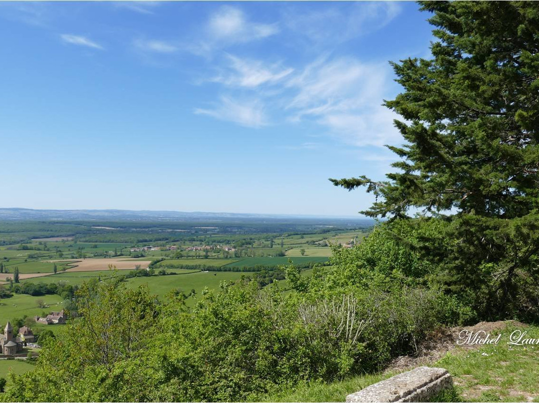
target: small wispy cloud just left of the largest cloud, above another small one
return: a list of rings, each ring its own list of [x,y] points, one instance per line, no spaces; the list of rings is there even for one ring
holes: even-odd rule
[[[275,84],[294,71],[293,68],[282,68],[278,64],[268,65],[259,60],[240,59],[231,54],[227,54],[226,58],[229,62],[227,68],[210,81],[226,86],[254,88],[262,84]]]

